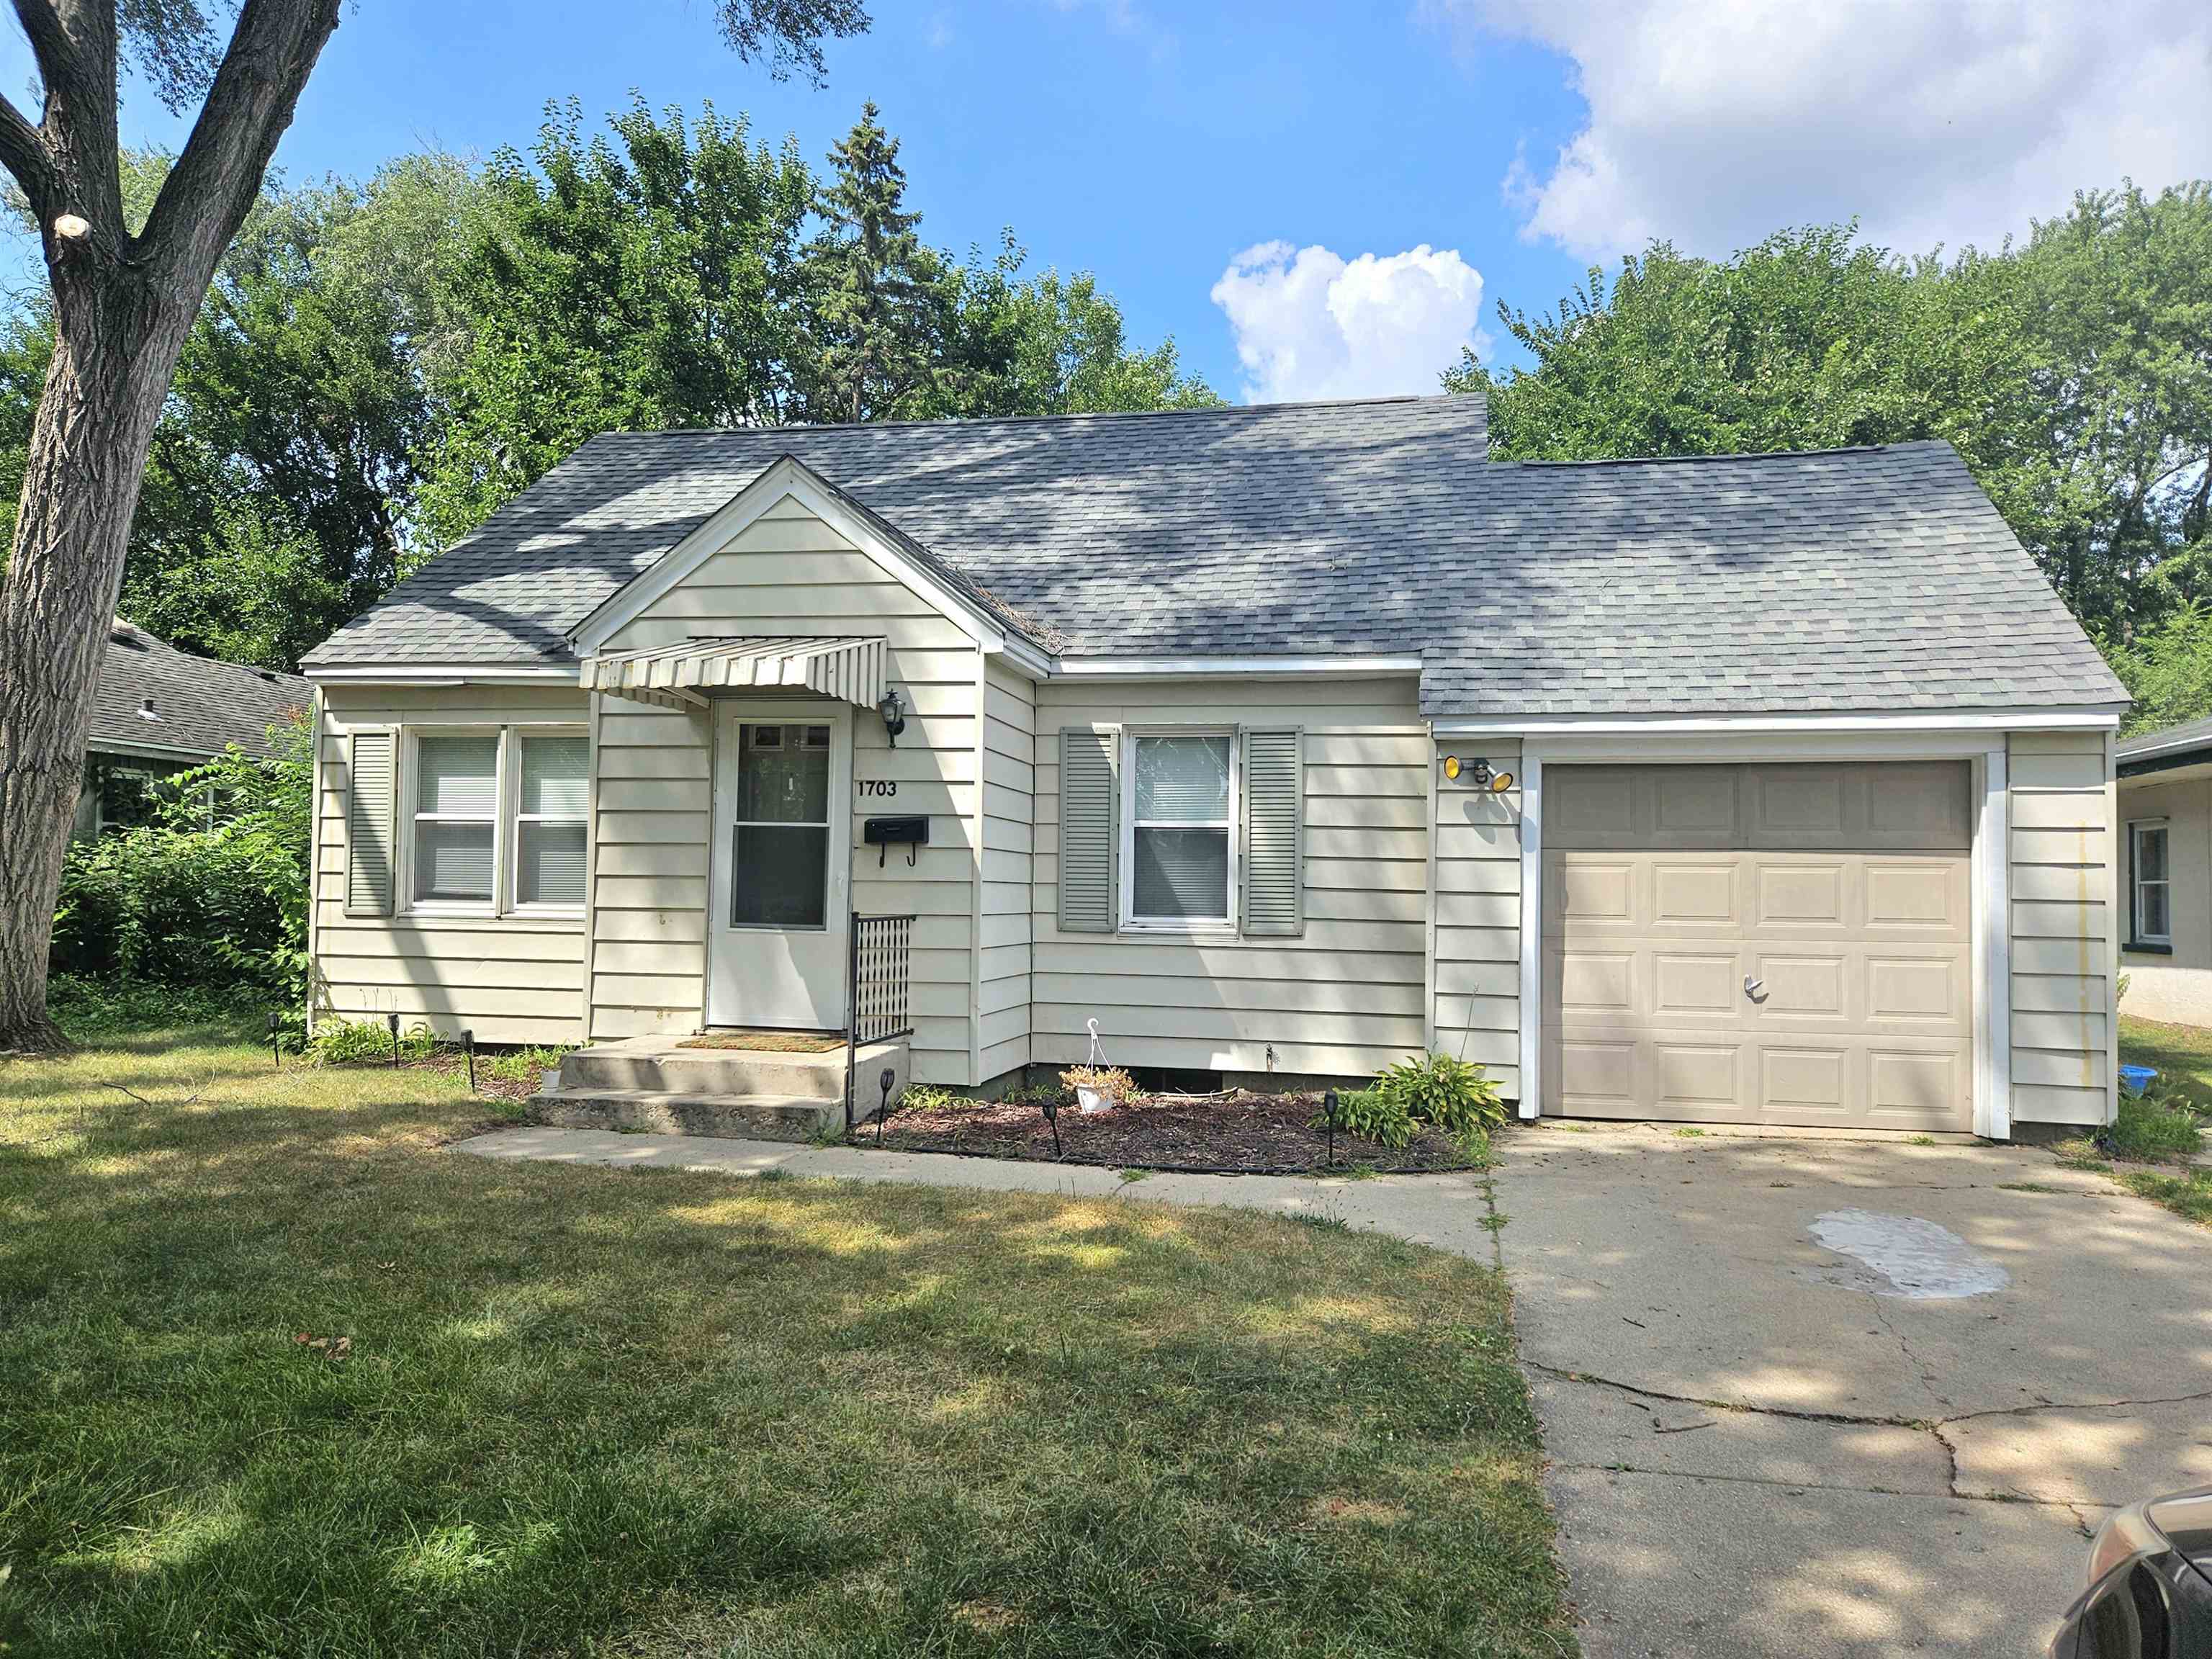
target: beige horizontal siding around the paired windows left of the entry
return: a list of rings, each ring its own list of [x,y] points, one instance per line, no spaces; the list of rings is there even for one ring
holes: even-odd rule
[[[462,1029],[480,1042],[584,1035],[584,922],[540,916],[347,916],[345,737],[407,723],[582,723],[580,690],[332,686],[316,743],[316,1022],[383,1020]],[[407,832],[405,801],[398,834]]]

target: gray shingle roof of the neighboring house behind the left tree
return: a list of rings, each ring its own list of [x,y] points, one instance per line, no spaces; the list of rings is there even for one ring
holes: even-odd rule
[[[100,659],[86,748],[221,754],[237,743],[268,754],[268,728],[312,699],[314,686],[299,675],[195,657],[117,617]]]

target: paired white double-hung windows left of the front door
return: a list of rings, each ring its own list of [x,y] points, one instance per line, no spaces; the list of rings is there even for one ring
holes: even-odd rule
[[[591,739],[562,726],[409,730],[407,907],[476,916],[584,909]]]

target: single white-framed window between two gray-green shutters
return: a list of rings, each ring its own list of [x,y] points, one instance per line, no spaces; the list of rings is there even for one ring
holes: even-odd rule
[[[1237,891],[1234,732],[1133,732],[1124,776],[1124,922],[1225,927]]]

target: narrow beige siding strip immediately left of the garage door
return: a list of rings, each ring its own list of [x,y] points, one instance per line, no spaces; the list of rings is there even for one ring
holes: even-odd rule
[[[1504,794],[1447,783],[1442,757],[1486,759],[1515,783]],[[1482,1062],[1520,1097],[1520,743],[1440,739],[1436,772],[1436,1046]]]

